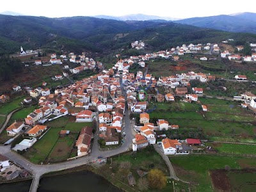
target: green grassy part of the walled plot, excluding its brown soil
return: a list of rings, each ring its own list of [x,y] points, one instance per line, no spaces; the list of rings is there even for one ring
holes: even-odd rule
[[[29,161],[33,163],[44,163],[46,158],[49,156],[51,151],[53,150],[54,146],[56,145],[58,138],[59,138],[59,132],[63,130],[69,130],[72,132],[77,132],[76,136],[72,138],[72,140],[76,140],[76,137],[79,134],[79,131],[85,126],[92,126],[92,123],[75,123],[75,122],[69,122],[67,117],[61,117],[56,120],[53,120],[52,122],[48,122],[45,124],[51,129],[44,135],[41,140],[37,141],[33,147],[29,148],[27,152],[24,153],[24,156],[29,159]],[[67,147],[70,147],[70,143],[72,142],[69,140],[69,138],[64,139],[63,142],[67,142]],[[70,148],[71,151],[71,148]],[[69,152],[67,152],[69,154]],[[52,155],[54,157],[51,157],[51,161],[58,161],[59,157]],[[63,155],[65,156],[65,155]],[[63,157],[60,158],[61,160]]]

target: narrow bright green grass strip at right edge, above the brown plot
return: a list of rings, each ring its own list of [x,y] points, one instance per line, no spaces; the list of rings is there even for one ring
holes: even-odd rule
[[[229,144],[229,143],[221,143],[221,145],[217,145],[214,147],[220,153],[227,154],[252,154],[256,155],[256,145],[239,145],[239,144]]]

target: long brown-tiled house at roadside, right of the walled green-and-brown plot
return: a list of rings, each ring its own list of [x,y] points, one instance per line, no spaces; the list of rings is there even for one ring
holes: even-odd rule
[[[76,141],[77,156],[85,156],[90,151],[92,140],[92,127],[84,127],[81,129],[79,137]]]

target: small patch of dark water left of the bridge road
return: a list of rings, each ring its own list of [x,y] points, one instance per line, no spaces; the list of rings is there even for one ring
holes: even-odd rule
[[[31,180],[22,182],[12,182],[8,184],[0,184],[0,191],[2,192],[28,192]]]

